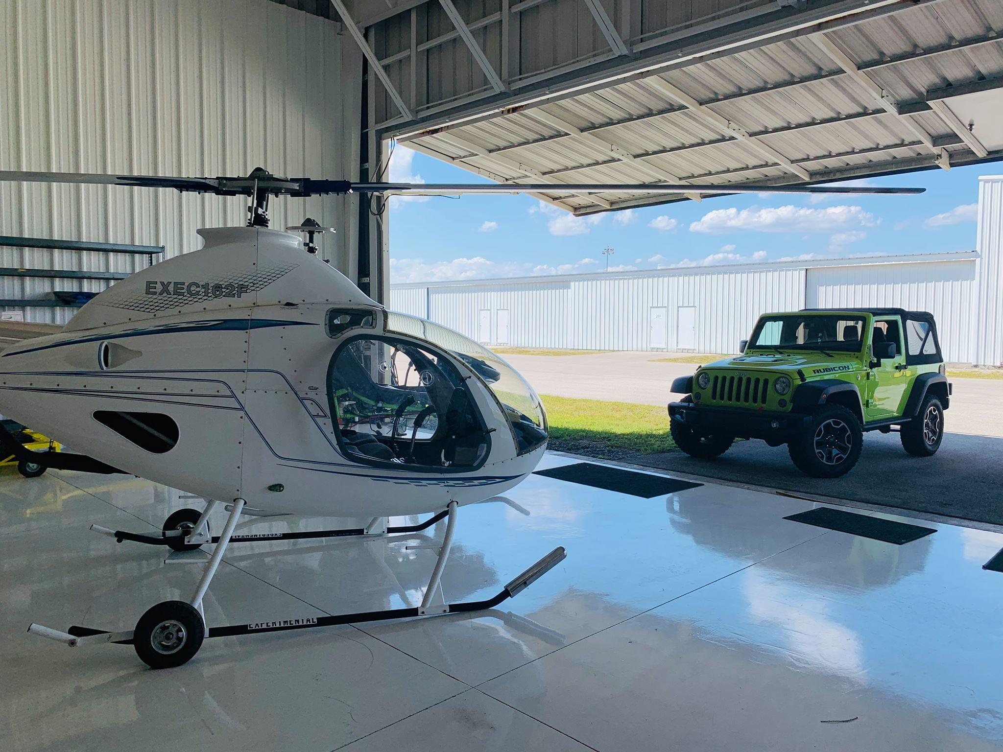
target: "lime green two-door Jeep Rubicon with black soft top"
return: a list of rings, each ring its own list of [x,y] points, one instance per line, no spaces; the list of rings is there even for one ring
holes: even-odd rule
[[[910,454],[944,438],[951,384],[929,313],[899,308],[805,309],[766,314],[740,355],[672,382],[676,445],[720,456],[736,438],[787,445],[814,477],[834,478],[861,456],[864,431],[898,427]]]

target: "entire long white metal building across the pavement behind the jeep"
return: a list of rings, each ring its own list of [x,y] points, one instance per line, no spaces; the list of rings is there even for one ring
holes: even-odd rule
[[[1003,363],[1003,177],[980,181],[978,250],[391,285],[392,308],[519,347],[735,352],[756,317],[800,308],[931,311],[948,360]]]

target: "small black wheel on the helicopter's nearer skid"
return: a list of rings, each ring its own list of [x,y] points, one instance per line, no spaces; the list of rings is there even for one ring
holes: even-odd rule
[[[206,625],[195,607],[163,601],[139,617],[132,647],[149,668],[172,669],[191,661],[205,639]]]

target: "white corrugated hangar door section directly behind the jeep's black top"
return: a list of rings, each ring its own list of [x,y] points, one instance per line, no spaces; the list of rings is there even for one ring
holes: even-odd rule
[[[976,263],[885,264],[808,270],[809,308],[891,307],[930,311],[944,357],[976,361],[973,324]]]

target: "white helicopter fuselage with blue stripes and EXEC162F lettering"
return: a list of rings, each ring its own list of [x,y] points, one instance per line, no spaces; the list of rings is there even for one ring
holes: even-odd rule
[[[542,409],[543,440],[517,438],[483,360],[409,317],[391,330],[395,315],[294,236],[202,234],[203,250],[0,354],[0,412],[122,471],[276,512],[438,511],[536,467]]]

